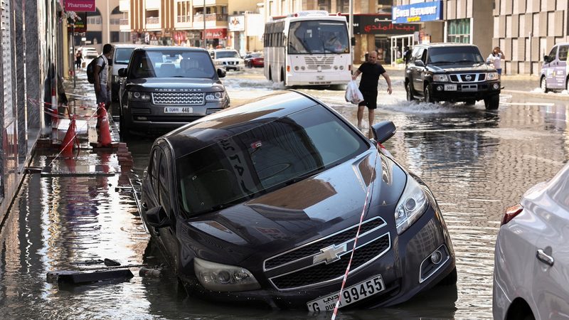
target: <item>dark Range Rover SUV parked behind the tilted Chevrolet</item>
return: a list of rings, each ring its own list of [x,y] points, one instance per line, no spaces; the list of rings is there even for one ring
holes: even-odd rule
[[[202,48],[157,46],[132,51],[119,92],[120,134],[171,130],[229,106],[214,67]]]

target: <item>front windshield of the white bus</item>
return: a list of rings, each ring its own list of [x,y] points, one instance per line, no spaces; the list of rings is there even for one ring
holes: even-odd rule
[[[349,53],[348,28],[340,21],[294,21],[288,34],[289,54]]]

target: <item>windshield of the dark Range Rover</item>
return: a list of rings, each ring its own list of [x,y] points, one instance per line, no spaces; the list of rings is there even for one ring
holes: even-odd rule
[[[140,50],[129,65],[129,78],[214,78],[206,51]]]

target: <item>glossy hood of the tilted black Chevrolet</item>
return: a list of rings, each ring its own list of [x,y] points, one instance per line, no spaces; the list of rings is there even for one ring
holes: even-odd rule
[[[265,196],[192,218],[186,221],[190,237],[186,245],[198,240],[209,249],[198,250],[202,257],[219,262],[276,255],[357,225],[368,186],[371,206],[366,206],[369,211],[364,220],[381,215],[393,224],[407,174],[388,157],[375,154],[370,151]],[[196,231],[200,236],[196,237]]]

